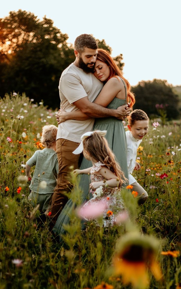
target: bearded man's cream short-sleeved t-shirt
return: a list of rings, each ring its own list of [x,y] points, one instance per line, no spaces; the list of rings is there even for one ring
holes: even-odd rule
[[[93,102],[102,87],[103,83],[93,73],[85,73],[72,63],[63,71],[60,78],[60,108],[67,112],[79,110],[73,103],[86,96],[90,102]],[[87,131],[92,131],[93,125],[94,118],[85,121],[65,121],[58,126],[57,139],[80,142],[81,136]]]

